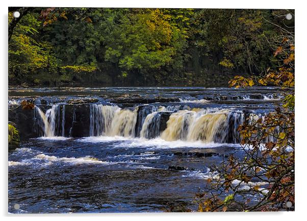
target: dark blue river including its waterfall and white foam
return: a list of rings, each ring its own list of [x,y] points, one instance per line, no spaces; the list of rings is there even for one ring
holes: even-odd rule
[[[195,210],[210,166],[243,157],[246,115],[257,120],[282,97],[276,88],[10,88],[9,106],[36,104],[40,132],[9,153],[9,211]]]

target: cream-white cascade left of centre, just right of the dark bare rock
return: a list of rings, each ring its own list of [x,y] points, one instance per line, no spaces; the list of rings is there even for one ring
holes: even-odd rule
[[[138,108],[92,104],[90,107],[90,136],[135,136]]]

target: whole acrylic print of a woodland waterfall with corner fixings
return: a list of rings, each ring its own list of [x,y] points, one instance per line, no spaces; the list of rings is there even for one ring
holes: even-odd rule
[[[293,211],[294,15],[9,8],[9,212]]]

